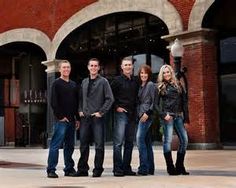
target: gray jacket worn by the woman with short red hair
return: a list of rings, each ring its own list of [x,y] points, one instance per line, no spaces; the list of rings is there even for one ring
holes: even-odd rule
[[[140,118],[144,113],[151,115],[154,110],[154,102],[156,96],[156,86],[149,81],[145,86],[140,86],[138,92],[137,113]]]

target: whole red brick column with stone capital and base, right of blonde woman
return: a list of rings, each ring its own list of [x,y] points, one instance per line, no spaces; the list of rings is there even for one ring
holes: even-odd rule
[[[190,125],[189,146],[196,149],[220,147],[217,46],[215,31],[200,29],[163,37],[181,40],[185,52],[182,67],[187,68]],[[173,58],[171,57],[171,64]]]

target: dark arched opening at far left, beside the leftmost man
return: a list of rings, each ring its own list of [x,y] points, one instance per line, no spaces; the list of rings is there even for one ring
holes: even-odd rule
[[[42,145],[46,130],[44,51],[30,42],[0,47],[0,145]]]

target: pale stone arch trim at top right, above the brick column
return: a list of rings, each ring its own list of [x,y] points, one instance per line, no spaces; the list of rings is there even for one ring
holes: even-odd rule
[[[196,0],[190,13],[188,30],[194,31],[202,28],[202,21],[210,6],[215,0]]]

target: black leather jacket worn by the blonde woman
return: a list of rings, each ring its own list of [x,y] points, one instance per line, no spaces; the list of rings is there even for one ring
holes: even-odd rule
[[[158,91],[156,99],[156,108],[162,119],[169,114],[173,118],[183,116],[184,122],[189,122],[187,93],[184,89],[180,93],[172,84],[166,83],[166,92],[162,94]]]

